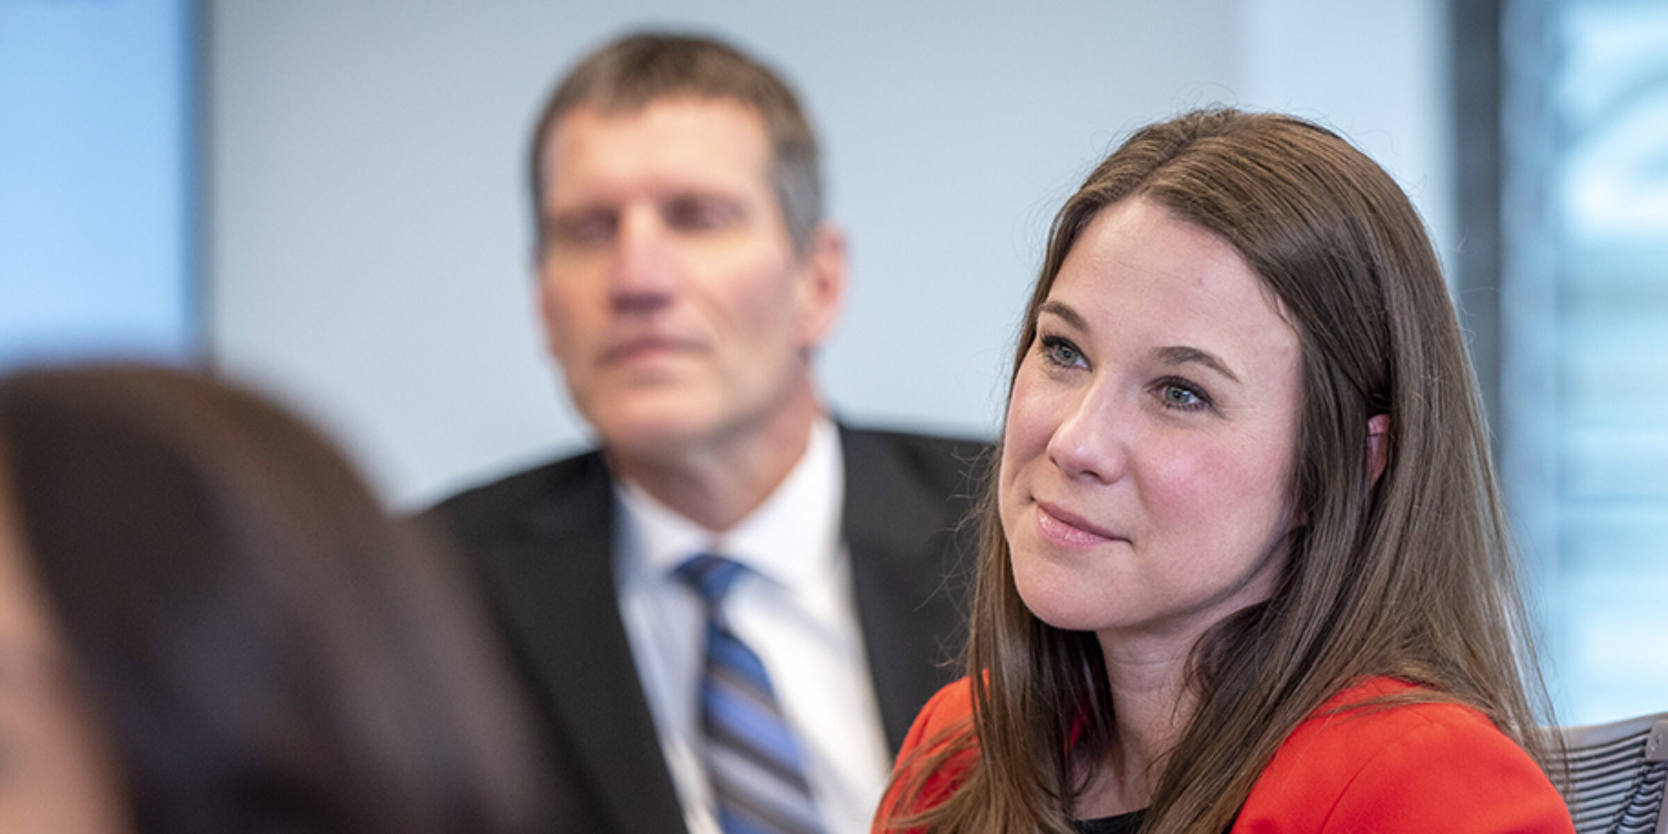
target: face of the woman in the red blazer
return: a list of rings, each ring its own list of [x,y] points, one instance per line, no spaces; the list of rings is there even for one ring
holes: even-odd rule
[[[1186,652],[1268,599],[1298,404],[1298,335],[1226,240],[1139,198],[1101,210],[1007,405],[999,504],[1031,612]]]

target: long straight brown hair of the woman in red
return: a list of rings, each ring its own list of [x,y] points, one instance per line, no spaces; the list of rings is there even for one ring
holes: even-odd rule
[[[1546,709],[1488,437],[1436,254],[1373,160],[1299,118],[1201,110],[1129,137],[1066,200],[1049,232],[1014,367],[1091,219],[1143,198],[1221,235],[1278,295],[1301,345],[1291,495],[1304,519],[1271,599],[1194,647],[1198,711],[1156,782],[1148,832],[1228,827],[1286,736],[1364,676],[1468,704],[1541,757]],[[1368,419],[1389,415],[1376,485]],[[999,457],[996,457],[999,459]],[[942,804],[902,819],[932,831],[1069,832],[1073,779],[1113,739],[1093,634],[1036,619],[1014,587],[996,512],[967,649],[972,722],[904,767],[906,812],[927,776],[977,751]],[[957,759],[959,761],[959,759]]]

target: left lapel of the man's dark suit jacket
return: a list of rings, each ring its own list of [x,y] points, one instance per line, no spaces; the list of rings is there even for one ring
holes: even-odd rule
[[[614,585],[614,494],[600,455],[525,515],[500,594],[542,704],[619,832],[684,831]]]

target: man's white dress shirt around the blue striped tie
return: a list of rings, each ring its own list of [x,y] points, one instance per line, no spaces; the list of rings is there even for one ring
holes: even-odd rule
[[[824,419],[782,485],[726,534],[702,529],[631,482],[615,485],[620,614],[691,834],[719,834],[701,762],[706,614],[701,597],[674,575],[702,552],[749,569],[729,590],[724,614],[771,674],[827,832],[869,831],[891,756],[841,539],[844,480],[839,432]]]

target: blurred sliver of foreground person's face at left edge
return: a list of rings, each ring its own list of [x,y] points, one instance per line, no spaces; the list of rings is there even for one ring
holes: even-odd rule
[[[0,831],[130,831],[107,739],[70,672],[0,484]]]

